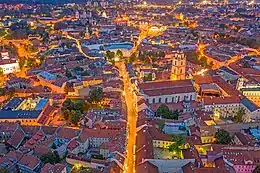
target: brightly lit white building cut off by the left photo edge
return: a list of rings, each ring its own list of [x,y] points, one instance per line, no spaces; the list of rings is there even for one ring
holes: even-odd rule
[[[4,74],[14,73],[20,70],[17,58],[11,58],[5,49],[1,52],[0,68]]]

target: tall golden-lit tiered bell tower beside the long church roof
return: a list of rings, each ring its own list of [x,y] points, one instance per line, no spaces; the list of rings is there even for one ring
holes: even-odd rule
[[[186,79],[186,56],[183,52],[177,51],[172,55],[171,80]]]

